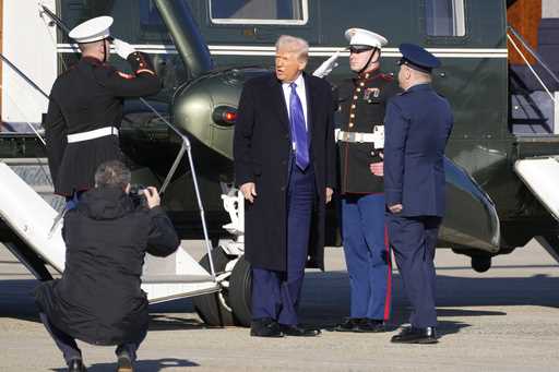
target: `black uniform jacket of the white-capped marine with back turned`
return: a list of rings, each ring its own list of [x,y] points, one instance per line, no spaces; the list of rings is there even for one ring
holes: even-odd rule
[[[162,84],[147,56],[134,52],[128,62],[134,75],[84,57],[52,85],[43,127],[57,194],[72,195],[74,191],[93,188],[95,170],[102,163],[123,159],[116,135],[70,144],[67,135],[104,127],[120,128],[124,98],[159,92]]]

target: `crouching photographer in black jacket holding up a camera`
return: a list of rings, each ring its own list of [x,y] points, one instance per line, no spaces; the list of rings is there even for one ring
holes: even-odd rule
[[[166,256],[179,247],[157,190],[143,190],[142,207],[129,191],[130,170],[122,163],[97,168],[95,188],[64,217],[62,278],[36,290],[40,320],[69,371],[86,371],[75,339],[117,345],[117,371],[133,371],[148,324],[147,299],[140,288],[144,255]]]

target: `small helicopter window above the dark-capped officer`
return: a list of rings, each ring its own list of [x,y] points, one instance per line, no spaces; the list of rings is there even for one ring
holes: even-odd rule
[[[464,36],[464,0],[427,0],[427,35]]]

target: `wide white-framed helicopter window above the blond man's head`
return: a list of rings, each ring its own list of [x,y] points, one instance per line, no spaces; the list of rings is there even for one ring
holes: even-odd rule
[[[308,0],[210,0],[213,23],[306,24]]]

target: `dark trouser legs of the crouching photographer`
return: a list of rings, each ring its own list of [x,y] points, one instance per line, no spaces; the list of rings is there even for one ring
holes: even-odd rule
[[[75,339],[72,336],[64,333],[63,331],[57,328],[52,323],[50,323],[47,314],[39,313],[39,316],[40,321],[43,322],[48,333],[57,344],[58,348],[60,349],[60,351],[62,351],[67,364],[70,364],[72,360],[82,359],[82,350],[80,350],[80,348],[78,347]],[[140,344],[142,344],[142,341],[144,340],[145,335],[146,332],[144,332],[141,339],[135,343],[119,345],[115,350],[117,357],[122,353],[127,353],[132,362],[135,361],[135,352],[140,347]]]

